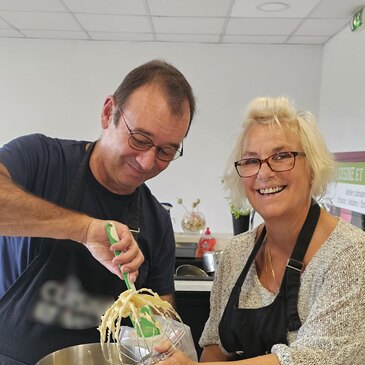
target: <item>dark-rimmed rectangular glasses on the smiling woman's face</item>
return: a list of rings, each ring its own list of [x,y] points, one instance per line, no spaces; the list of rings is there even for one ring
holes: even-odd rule
[[[263,163],[267,163],[271,171],[284,172],[289,171],[295,166],[297,156],[305,156],[304,152],[279,152],[260,160],[259,158],[243,158],[236,161],[234,166],[239,176],[251,177],[259,173]]]

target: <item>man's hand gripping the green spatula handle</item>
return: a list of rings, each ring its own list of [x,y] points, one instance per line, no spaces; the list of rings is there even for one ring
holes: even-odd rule
[[[129,279],[135,282],[138,268],[144,261],[144,256],[133,238],[128,227],[113,221],[120,241],[110,245],[105,225],[109,221],[93,219],[88,227],[84,245],[102,265],[109,271],[123,278],[122,272],[129,273]],[[115,256],[114,251],[120,251]],[[120,269],[118,267],[120,265]]]

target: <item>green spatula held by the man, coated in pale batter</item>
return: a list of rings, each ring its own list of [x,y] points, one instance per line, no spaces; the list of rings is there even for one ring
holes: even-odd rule
[[[117,230],[116,230],[116,228],[115,228],[115,226],[112,222],[108,222],[105,225],[105,229],[106,229],[106,232],[108,234],[109,243],[111,245],[113,245],[114,243],[119,241]],[[120,255],[120,253],[121,253],[120,251],[115,251],[114,255],[118,256],[118,255]],[[119,269],[121,269],[120,265],[119,265]],[[124,278],[124,281],[125,281],[125,284],[126,284],[127,288],[136,291],[136,287],[129,280],[128,273],[122,271],[122,274],[123,274],[123,278]],[[146,313],[151,318],[153,318],[152,310],[151,310],[150,307],[148,307],[148,306],[143,307],[141,309],[141,312]],[[152,336],[157,336],[157,335],[160,334],[160,331],[155,326],[155,324],[153,322],[150,322],[145,317],[140,318],[139,326],[136,325],[132,319],[131,319],[131,321],[132,321],[133,327],[135,328],[135,330],[136,330],[139,337],[152,337]]]

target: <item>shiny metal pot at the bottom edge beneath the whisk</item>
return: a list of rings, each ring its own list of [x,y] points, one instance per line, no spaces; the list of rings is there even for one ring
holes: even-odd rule
[[[147,350],[135,346],[124,346],[123,348],[110,344],[111,358],[113,364],[130,364],[135,365],[139,360],[147,354]],[[119,361],[118,352],[123,351],[122,360]],[[127,356],[128,355],[128,356]],[[88,343],[84,345],[76,345],[67,347],[62,350],[55,351],[39,362],[36,365],[110,365],[110,362],[104,358],[100,343]]]

